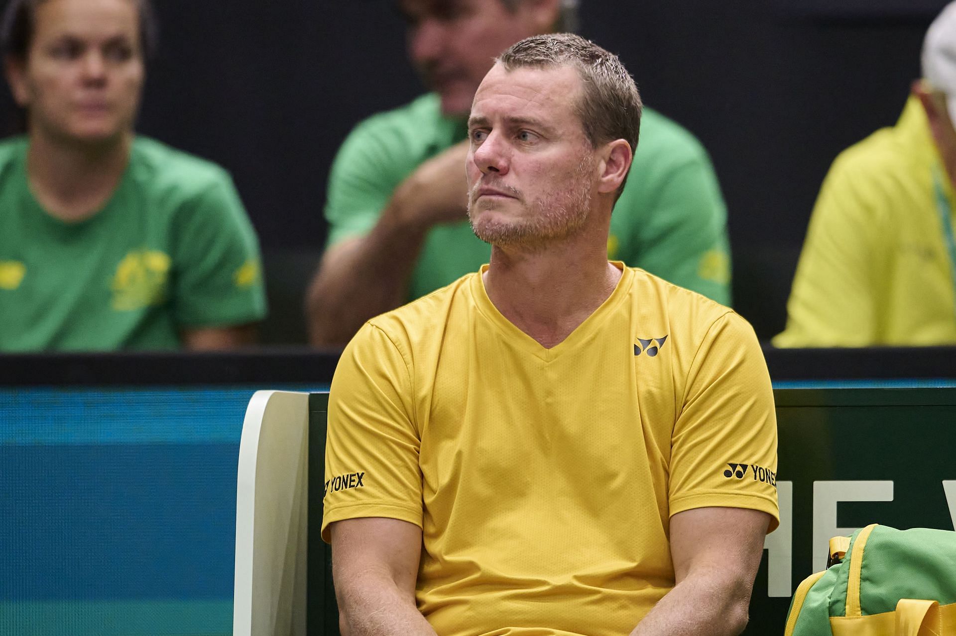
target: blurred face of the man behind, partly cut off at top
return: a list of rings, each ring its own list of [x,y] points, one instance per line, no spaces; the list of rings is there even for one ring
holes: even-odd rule
[[[467,116],[494,57],[550,27],[540,9],[501,0],[400,0],[408,23],[408,53],[425,86],[442,97],[442,112]],[[551,16],[552,22],[556,13]]]

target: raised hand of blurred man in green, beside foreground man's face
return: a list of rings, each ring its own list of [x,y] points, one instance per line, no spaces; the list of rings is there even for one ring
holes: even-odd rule
[[[420,165],[396,188],[392,210],[396,221],[407,227],[427,230],[436,223],[453,223],[467,218],[468,185],[465,161],[468,141],[451,146]]]

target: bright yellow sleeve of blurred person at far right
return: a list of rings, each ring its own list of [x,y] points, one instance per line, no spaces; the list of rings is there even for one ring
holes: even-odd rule
[[[892,252],[877,213],[880,203],[858,169],[836,159],[823,181],[787,302],[777,347],[866,347],[878,339],[875,279]],[[873,195],[879,196],[878,193]]]

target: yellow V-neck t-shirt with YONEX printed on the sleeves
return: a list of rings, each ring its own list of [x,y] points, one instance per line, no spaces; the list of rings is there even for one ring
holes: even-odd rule
[[[418,524],[439,636],[620,636],[674,585],[671,515],[770,514],[776,419],[753,330],[623,267],[544,349],[480,274],[369,321],[332,383],[328,524]]]

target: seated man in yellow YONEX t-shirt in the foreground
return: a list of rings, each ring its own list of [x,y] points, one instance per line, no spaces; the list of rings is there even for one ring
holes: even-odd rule
[[[333,380],[343,632],[746,625],[777,524],[770,378],[732,310],[607,261],[640,122],[618,58],[576,35],[486,75],[466,170],[490,264],[370,320]]]

